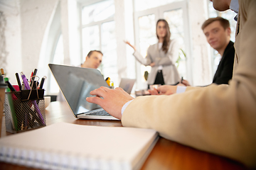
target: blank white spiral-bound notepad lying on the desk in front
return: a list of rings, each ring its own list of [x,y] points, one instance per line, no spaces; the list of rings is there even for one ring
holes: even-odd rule
[[[155,130],[55,123],[3,137],[0,161],[41,169],[140,169]]]

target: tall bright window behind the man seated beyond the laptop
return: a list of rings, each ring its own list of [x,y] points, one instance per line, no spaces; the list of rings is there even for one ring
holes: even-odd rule
[[[115,34],[114,0],[100,1],[82,8],[82,55],[90,50],[103,53],[100,71],[118,84],[117,38]]]

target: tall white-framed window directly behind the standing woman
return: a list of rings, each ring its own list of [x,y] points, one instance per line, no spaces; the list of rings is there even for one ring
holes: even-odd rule
[[[136,9],[142,9],[142,6],[138,6],[142,3],[143,0],[135,1]],[[172,4],[167,4],[173,2]],[[144,2],[145,3],[145,2]],[[160,3],[160,2],[159,2]],[[155,1],[146,1],[145,6],[159,6],[156,5]],[[161,4],[167,4],[165,6],[159,6],[156,8],[149,8],[144,11],[135,12],[135,31],[137,32],[138,38],[135,38],[136,46],[142,56],[146,56],[146,51],[149,45],[153,45],[158,42],[156,38],[156,21],[159,18],[164,18],[169,23],[171,31],[171,39],[178,40],[178,43],[181,45],[179,51],[179,59],[176,62],[176,67],[181,77],[187,79],[188,77],[188,62],[187,56],[189,55],[189,33],[188,33],[188,16],[187,16],[187,7],[185,1],[174,2],[174,0],[161,1]],[[145,67],[142,64],[137,66],[139,70],[139,81],[142,81],[140,86],[145,84],[146,80],[144,79],[144,72],[151,71],[151,67]],[[137,74],[138,75],[138,74]],[[139,82],[138,81],[138,82]]]

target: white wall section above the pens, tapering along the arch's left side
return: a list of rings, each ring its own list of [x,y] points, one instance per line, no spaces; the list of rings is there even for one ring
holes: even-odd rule
[[[30,76],[38,68],[43,37],[57,0],[22,0],[21,2],[21,54],[23,72]],[[42,70],[38,69],[38,74]]]

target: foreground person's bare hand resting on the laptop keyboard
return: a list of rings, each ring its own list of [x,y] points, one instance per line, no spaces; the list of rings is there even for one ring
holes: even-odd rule
[[[122,118],[122,106],[134,99],[119,87],[109,89],[105,86],[101,86],[91,91],[90,94],[95,97],[87,97],[86,101],[100,105],[107,113],[110,113],[110,115],[118,119]]]

